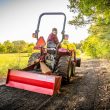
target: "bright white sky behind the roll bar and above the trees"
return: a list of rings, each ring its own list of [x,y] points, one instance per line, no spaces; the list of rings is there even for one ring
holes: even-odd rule
[[[75,28],[68,24],[74,13],[67,8],[68,0],[0,0],[0,42],[5,40],[25,40],[36,42],[32,33],[37,28],[39,15],[43,12],[64,12],[67,16],[65,33],[70,42],[80,42],[88,36],[88,27]],[[43,16],[39,36],[45,40],[53,27],[58,29],[61,39],[63,16]]]

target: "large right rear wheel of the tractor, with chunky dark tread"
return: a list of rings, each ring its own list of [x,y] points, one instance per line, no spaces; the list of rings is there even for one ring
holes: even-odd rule
[[[72,75],[72,64],[70,56],[60,57],[56,72],[58,73],[58,75],[62,76],[63,82],[70,82]]]

